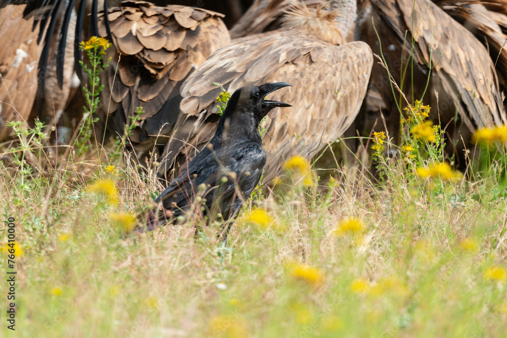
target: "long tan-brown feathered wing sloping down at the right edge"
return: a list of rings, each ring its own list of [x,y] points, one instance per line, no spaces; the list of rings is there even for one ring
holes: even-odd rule
[[[431,68],[431,88],[427,92],[432,100],[433,91],[439,92],[438,108],[444,123],[453,118],[455,108],[470,131],[505,123],[493,63],[488,51],[472,33],[432,2],[372,0],[372,5],[383,22],[380,25],[385,24],[397,40],[392,48],[388,45],[391,54],[397,53],[397,57],[388,61],[397,82],[401,69],[396,69],[392,62],[399,60],[402,49],[405,53],[410,51],[413,38],[413,57],[418,63],[416,71],[423,79]],[[407,30],[410,33],[405,35]],[[388,85],[384,87],[390,91]],[[414,92],[422,94],[424,85],[420,87],[423,88],[414,89]],[[437,102],[433,101],[431,106],[437,110]]]

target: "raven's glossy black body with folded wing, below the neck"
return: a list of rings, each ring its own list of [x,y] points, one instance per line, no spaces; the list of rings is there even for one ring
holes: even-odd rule
[[[162,202],[164,209],[177,217],[190,212],[196,197],[201,196],[205,213],[220,212],[228,219],[259,183],[265,163],[262,146],[250,141],[218,149],[205,147],[155,202]],[[158,220],[165,223],[165,213]],[[156,226],[154,221],[149,222],[148,230]]]

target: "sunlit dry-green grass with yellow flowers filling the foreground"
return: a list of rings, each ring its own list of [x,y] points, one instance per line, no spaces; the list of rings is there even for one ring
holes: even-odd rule
[[[494,177],[425,180],[403,160],[386,164],[381,185],[364,167],[337,167],[334,182],[311,187],[286,177],[273,191],[264,188],[262,205],[276,227],[248,222],[246,211],[228,247],[220,248],[209,240],[213,230],[195,241],[192,224],[124,236],[110,212],[135,213],[162,186],[130,166],[110,174],[98,165],[106,162],[90,154],[45,169],[49,174],[2,165],[3,219],[16,218],[23,250],[15,259],[16,331],[4,319],[3,336],[500,337],[507,331],[507,201]],[[104,178],[118,184],[117,207],[86,192]],[[349,216],[363,228],[335,236]],[[5,242],[6,223],[1,227]],[[0,264],[9,271],[5,254]],[[307,273],[297,278],[297,269]],[[7,305],[5,276],[0,293]]]

